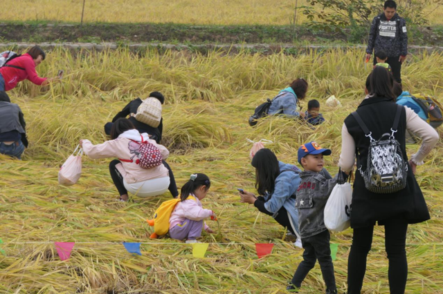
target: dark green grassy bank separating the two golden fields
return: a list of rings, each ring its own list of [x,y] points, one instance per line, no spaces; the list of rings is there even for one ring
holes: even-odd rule
[[[4,21],[0,23],[0,44],[9,42],[25,43],[102,43],[114,42],[120,46],[133,43],[168,43],[175,46],[186,45],[199,51],[224,44],[269,44],[291,47],[311,45],[350,46],[368,41],[369,27],[359,36],[346,29],[341,32],[325,32],[309,28],[307,24],[298,26],[247,24],[247,25],[199,25],[182,23],[54,23],[51,21]],[[409,49],[411,45],[443,46],[443,26],[426,26],[408,31]],[[271,50],[269,50],[271,51]],[[296,48],[289,48],[294,54]],[[207,49],[205,50],[205,53]],[[258,50],[257,52],[263,52]],[[269,53],[269,52],[268,52]]]

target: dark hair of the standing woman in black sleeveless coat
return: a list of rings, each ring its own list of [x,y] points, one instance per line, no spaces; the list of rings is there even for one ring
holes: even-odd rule
[[[376,66],[372,70],[370,77],[370,92],[369,95],[372,97],[386,97],[395,100],[394,92],[392,92],[392,87],[394,86],[394,79],[392,74],[381,66]]]

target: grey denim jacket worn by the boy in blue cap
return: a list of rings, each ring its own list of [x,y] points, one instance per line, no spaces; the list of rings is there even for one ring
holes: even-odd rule
[[[297,189],[296,208],[300,235],[307,238],[327,230],[323,221],[324,210],[337,177],[327,179],[322,173],[311,171],[300,173],[300,177],[302,181]]]

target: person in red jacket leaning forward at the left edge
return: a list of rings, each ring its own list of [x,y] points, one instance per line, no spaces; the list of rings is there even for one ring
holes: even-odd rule
[[[44,61],[45,57],[46,55],[42,48],[34,46],[26,54],[8,61],[0,68],[0,91],[13,89],[19,81],[24,79],[28,79],[39,86],[59,80],[57,77],[51,79],[42,78],[35,72],[35,67]]]

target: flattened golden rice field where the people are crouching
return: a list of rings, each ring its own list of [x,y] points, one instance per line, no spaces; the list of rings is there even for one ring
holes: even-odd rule
[[[30,148],[23,161],[0,157],[0,237],[5,242],[0,246],[7,253],[0,255],[0,293],[284,293],[302,250],[284,239],[283,228],[271,217],[238,202],[235,188],[253,190],[251,144],[246,138],[271,139],[275,143],[268,147],[290,163],[296,163],[300,144],[315,139],[332,149],[326,166],[336,173],[343,119],[358,106],[370,72],[359,58],[361,52],[309,52],[296,58],[154,51],[136,57],[126,50],[81,53],[56,50],[39,66],[42,76],[56,75],[63,68],[62,84],[39,88],[23,82],[10,91],[12,101],[24,111]],[[443,55],[415,56],[404,66],[404,86],[442,97],[442,68]],[[320,100],[327,122],[313,131],[297,121],[274,117],[249,127],[253,108],[295,77],[309,81],[308,99]],[[84,157],[80,182],[68,188],[57,185],[58,167],[78,140],[104,141],[103,124],[127,101],[152,90],[167,97],[164,144],[171,150],[168,161],[178,185],[195,172],[208,174],[213,182],[203,202],[217,212],[221,238],[203,235],[201,241],[210,243],[205,259],[193,258],[190,246],[181,242],[148,239],[151,228],[145,218],[170,194],[117,202],[107,168],[110,159]],[[325,106],[326,90],[341,100],[341,108]],[[307,101],[302,104],[305,109]],[[408,153],[417,148],[408,146]],[[407,246],[407,293],[443,293],[441,148],[439,143],[418,168],[432,219],[409,228],[407,242],[413,245]],[[351,235],[350,229],[332,235],[332,242],[341,244],[334,262],[341,293]],[[121,244],[93,243],[123,241],[156,244],[143,244],[143,256],[132,256]],[[51,242],[78,244],[71,259],[60,262]],[[257,259],[255,242],[275,243],[273,254]],[[383,228],[376,228],[363,293],[388,293],[383,242]],[[440,244],[427,245],[435,243]],[[300,293],[323,291],[317,265]]]

